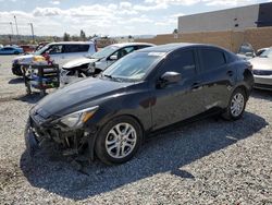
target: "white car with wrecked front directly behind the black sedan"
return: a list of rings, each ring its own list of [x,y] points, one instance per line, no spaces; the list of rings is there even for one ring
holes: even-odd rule
[[[69,84],[77,77],[98,74],[124,56],[151,46],[154,45],[147,43],[114,44],[107,46],[91,56],[72,60],[61,69],[61,83]]]

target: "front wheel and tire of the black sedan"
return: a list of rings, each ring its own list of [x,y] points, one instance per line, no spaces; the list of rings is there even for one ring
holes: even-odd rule
[[[143,129],[132,117],[122,116],[109,121],[98,133],[95,150],[104,164],[123,164],[138,150]]]

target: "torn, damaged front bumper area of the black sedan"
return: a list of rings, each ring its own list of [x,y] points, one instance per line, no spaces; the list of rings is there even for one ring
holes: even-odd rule
[[[26,152],[30,157],[47,142],[52,142],[58,146],[58,152],[63,156],[88,156],[94,159],[95,132],[90,130],[61,130],[54,125],[42,126],[37,124],[32,118],[25,126]]]

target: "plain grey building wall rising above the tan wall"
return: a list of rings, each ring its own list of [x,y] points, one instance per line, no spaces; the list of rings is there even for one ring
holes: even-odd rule
[[[178,33],[243,31],[257,27],[259,4],[178,17]]]

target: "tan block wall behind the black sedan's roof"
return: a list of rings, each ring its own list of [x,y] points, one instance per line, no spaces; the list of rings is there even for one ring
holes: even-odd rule
[[[254,48],[260,49],[272,46],[272,27],[248,28],[244,32],[201,32],[187,34],[164,34],[154,38],[137,39],[135,41],[163,45],[170,43],[200,43],[221,46],[234,52],[238,51],[243,43],[250,43]]]

